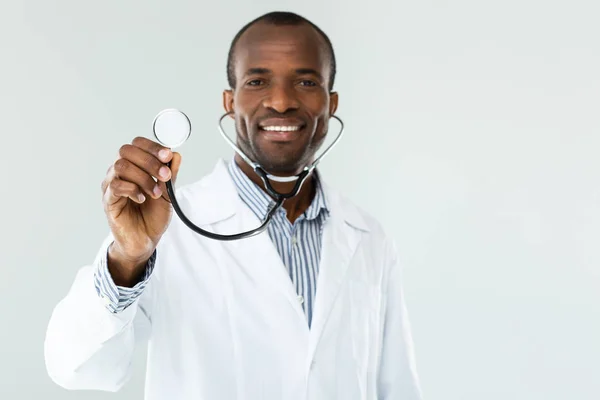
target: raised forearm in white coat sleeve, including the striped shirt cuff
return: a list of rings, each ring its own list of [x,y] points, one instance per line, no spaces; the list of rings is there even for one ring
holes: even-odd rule
[[[149,333],[140,303],[148,279],[133,288],[116,286],[106,265],[107,248],[103,249],[94,265],[79,270],[48,324],[48,374],[68,389],[117,391],[129,377],[135,342]],[[145,278],[150,272],[151,268]]]

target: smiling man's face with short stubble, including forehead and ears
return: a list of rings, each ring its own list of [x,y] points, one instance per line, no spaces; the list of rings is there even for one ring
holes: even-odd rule
[[[338,97],[325,41],[309,25],[256,24],[235,49],[236,87],[224,92],[240,148],[272,174],[299,173],[323,144]]]

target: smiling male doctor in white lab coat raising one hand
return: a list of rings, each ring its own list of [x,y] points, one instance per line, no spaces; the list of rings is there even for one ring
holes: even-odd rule
[[[299,173],[338,105],[327,36],[266,14],[233,40],[227,75],[239,146],[271,174]],[[102,183],[110,234],[49,322],[54,382],[118,391],[146,341],[147,400],[421,399],[395,245],[318,172],[268,231],[223,242],[172,218],[178,153],[136,138],[119,154]],[[222,234],[257,227],[272,202],[237,155],[177,198]]]

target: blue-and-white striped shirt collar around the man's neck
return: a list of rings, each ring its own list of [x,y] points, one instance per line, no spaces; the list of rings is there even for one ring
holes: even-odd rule
[[[237,191],[244,203],[246,203],[256,216],[262,220],[275,203],[273,199],[262,190],[260,186],[250,180],[250,178],[240,169],[235,160],[229,162],[229,173],[231,174]],[[315,219],[319,217],[321,213],[323,213],[324,216],[329,215],[327,196],[325,195],[320,180],[321,178],[316,169],[313,172],[313,177],[315,179],[316,195],[304,213],[307,220]]]

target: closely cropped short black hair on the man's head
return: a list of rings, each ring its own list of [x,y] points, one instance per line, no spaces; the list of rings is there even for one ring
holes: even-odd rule
[[[229,47],[229,54],[227,56],[227,81],[229,83],[230,88],[235,88],[236,79],[235,79],[235,67],[234,67],[234,52],[235,46],[239,41],[240,37],[250,28],[252,25],[264,22],[271,25],[301,25],[308,24],[313,27],[319,35],[325,40],[325,44],[329,50],[329,63],[330,63],[330,73],[329,73],[329,90],[333,90],[333,83],[335,81],[335,72],[336,72],[336,64],[335,64],[335,53],[333,51],[333,45],[329,40],[329,37],[323,32],[317,25],[310,22],[308,19],[287,11],[273,11],[248,22],[240,31],[235,35],[233,40],[231,41],[231,46]]]

